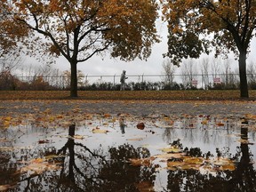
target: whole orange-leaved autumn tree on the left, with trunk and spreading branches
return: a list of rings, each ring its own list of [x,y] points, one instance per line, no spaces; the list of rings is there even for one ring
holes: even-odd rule
[[[10,0],[8,12],[44,42],[26,42],[64,56],[71,67],[70,96],[77,96],[77,63],[110,51],[121,60],[147,59],[158,42],[156,0]],[[6,5],[6,6],[7,6]]]

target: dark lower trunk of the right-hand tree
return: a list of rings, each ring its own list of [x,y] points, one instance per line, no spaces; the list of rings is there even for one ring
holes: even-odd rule
[[[246,52],[239,54],[240,97],[248,98],[248,84],[246,76]]]

